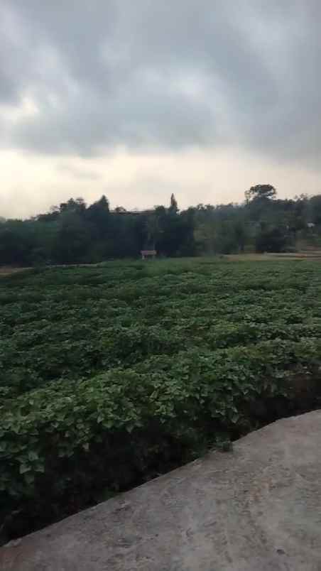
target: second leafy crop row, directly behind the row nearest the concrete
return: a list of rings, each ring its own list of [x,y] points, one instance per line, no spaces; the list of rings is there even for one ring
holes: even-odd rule
[[[0,347],[1,397],[19,395],[53,381],[92,377],[115,366],[132,367],[153,355],[172,355],[190,347],[196,350],[254,344],[268,339],[299,341],[302,337],[321,339],[321,322],[212,322],[207,318],[170,320],[163,327],[134,325],[104,327],[98,332],[92,323],[46,326],[42,342],[39,332],[19,332],[4,339]],[[33,343],[34,346],[33,346]]]

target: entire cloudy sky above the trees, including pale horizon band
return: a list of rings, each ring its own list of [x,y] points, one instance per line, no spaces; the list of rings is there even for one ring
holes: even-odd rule
[[[321,192],[320,0],[0,0],[0,216]]]

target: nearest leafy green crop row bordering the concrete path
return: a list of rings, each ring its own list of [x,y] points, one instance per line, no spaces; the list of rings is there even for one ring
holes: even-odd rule
[[[294,410],[302,384],[293,379],[298,371],[305,381],[315,378],[320,349],[316,339],[277,339],[155,356],[133,369],[62,379],[4,401],[1,511],[13,518],[11,533],[91,505],[102,491],[128,489],[255,428],[258,401],[268,406],[283,398]],[[266,408],[261,422],[274,415]]]

